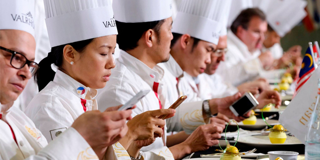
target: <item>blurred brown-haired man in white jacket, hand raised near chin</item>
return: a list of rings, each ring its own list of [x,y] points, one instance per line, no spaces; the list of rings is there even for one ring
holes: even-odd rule
[[[271,53],[260,52],[266,31],[265,15],[258,8],[245,9],[237,16],[227,33],[225,61],[217,69],[225,82],[238,86],[253,80],[264,67],[272,65]]]

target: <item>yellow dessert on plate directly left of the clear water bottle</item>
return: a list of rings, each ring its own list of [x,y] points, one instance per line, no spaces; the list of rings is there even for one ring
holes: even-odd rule
[[[271,143],[285,143],[287,139],[287,134],[285,133],[285,128],[282,125],[275,125],[270,129],[269,139]]]

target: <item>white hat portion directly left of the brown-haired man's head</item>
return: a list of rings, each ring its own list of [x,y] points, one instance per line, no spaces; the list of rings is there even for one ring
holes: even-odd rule
[[[253,7],[253,0],[232,0],[231,11],[228,19],[228,27],[230,27],[233,21],[238,17],[242,10]]]

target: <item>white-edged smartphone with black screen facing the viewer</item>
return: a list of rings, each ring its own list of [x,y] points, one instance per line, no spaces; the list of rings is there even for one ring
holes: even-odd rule
[[[254,109],[258,104],[259,102],[256,98],[250,92],[247,92],[229,108],[235,116],[243,116]]]

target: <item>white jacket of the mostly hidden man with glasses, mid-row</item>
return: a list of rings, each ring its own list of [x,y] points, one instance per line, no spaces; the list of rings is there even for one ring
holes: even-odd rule
[[[201,99],[222,98],[238,93],[238,89],[223,81],[219,74],[208,75],[202,73],[198,76],[198,90]]]

